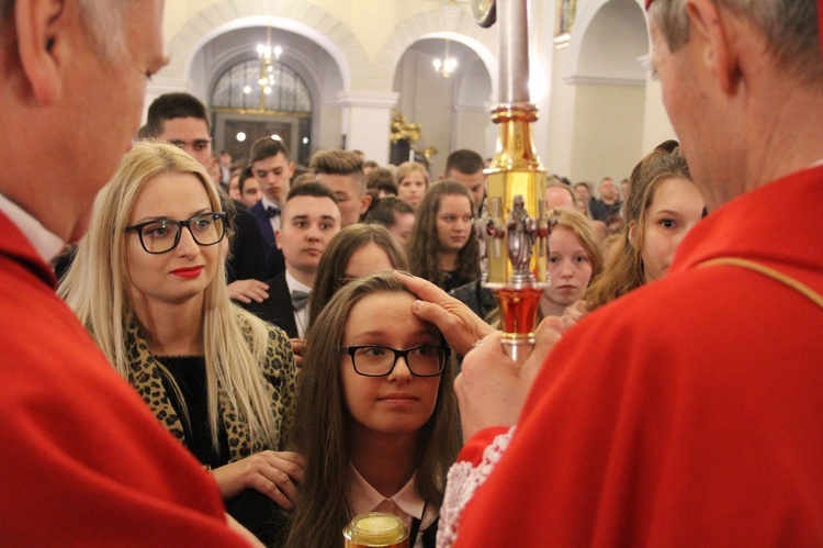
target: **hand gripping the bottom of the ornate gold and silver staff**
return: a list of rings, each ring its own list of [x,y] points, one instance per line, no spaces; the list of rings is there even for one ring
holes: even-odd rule
[[[559,317],[543,320],[534,331],[534,348],[522,366],[504,354],[499,333],[487,336],[466,354],[454,381],[463,439],[489,426],[517,424],[534,378],[563,333],[565,327]]]

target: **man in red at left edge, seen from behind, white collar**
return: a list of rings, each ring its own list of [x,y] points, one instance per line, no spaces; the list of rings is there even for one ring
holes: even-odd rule
[[[248,546],[212,478],[57,298],[48,267],[86,232],[137,132],[165,64],[162,8],[0,0],[3,546]]]

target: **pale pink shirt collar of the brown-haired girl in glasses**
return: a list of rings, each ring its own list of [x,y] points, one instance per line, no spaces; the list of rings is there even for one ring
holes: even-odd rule
[[[420,519],[420,530],[426,529],[437,518],[440,508],[426,504],[426,501],[417,494],[415,478],[410,480],[396,494],[386,499],[377,492],[365,479],[360,476],[354,465],[349,465],[351,477],[347,490],[347,500],[353,515],[367,512],[388,512],[403,519],[406,527],[412,527],[412,518]],[[424,508],[426,513],[424,514]]]

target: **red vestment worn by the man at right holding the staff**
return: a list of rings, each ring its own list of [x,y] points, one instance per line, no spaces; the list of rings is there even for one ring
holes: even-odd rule
[[[701,221],[553,349],[456,546],[823,545],[823,167]],[[499,430],[478,433],[461,455]]]

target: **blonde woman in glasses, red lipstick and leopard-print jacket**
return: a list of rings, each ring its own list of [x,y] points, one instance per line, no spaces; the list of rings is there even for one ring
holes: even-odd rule
[[[300,457],[281,451],[296,369],[285,334],[228,298],[221,202],[188,154],[136,144],[98,195],[60,294],[212,470],[229,513],[266,539],[268,516],[250,511],[261,501],[293,507],[302,473]]]

